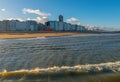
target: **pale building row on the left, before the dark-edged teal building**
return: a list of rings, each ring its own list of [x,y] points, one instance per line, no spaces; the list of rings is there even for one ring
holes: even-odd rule
[[[0,32],[28,32],[28,31],[40,31],[44,30],[46,26],[36,21],[18,21],[18,20],[4,20],[0,21]]]

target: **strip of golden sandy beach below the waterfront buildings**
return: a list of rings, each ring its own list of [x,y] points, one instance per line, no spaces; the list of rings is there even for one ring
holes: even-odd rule
[[[0,33],[0,39],[17,39],[17,38],[37,38],[37,37],[58,37],[86,35],[86,33],[77,32],[58,32],[58,33]]]

